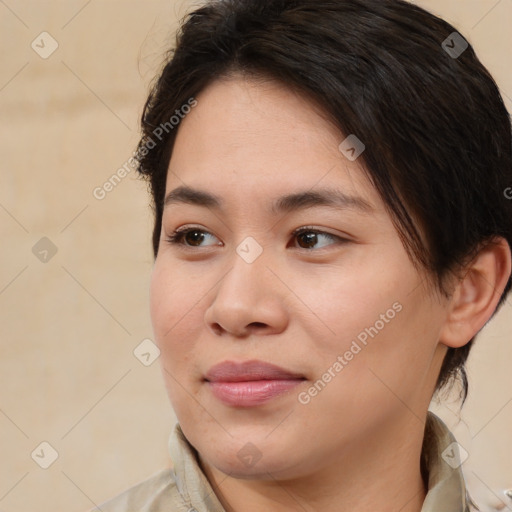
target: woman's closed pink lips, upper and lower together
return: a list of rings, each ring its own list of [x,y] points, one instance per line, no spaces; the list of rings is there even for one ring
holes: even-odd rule
[[[205,376],[213,395],[227,405],[254,407],[290,391],[304,376],[264,361],[224,361]]]

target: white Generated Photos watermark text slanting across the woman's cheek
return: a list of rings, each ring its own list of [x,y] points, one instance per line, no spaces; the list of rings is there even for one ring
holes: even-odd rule
[[[368,337],[373,339],[377,336],[377,334],[386,327],[386,324],[389,324],[389,322],[393,320],[397,313],[400,313],[402,309],[402,304],[400,304],[400,302],[393,303],[385,313],[380,315],[379,320],[377,320],[372,326],[363,329],[357,335],[357,339],[352,340],[350,348],[346,350],[343,355],[339,355],[336,358],[336,361],[327,368],[327,370],[318,380],[315,381],[313,385],[311,385],[306,391],[301,391],[298,394],[297,399],[299,403],[302,405],[309,404],[311,399],[323,391],[327,384],[329,384],[329,382],[331,382],[331,380],[334,379],[334,377],[336,377],[336,375],[338,375],[341,370],[343,370],[343,368],[345,368],[350,361],[352,361],[354,357],[368,345]]]

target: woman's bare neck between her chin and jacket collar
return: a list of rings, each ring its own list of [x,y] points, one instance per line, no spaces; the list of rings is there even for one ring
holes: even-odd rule
[[[281,480],[229,477],[201,459],[226,512],[420,512],[426,488],[420,470],[424,426],[416,419],[393,432],[353,443],[316,471]]]

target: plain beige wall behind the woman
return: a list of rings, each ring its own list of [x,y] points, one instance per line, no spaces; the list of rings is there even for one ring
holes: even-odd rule
[[[417,3],[469,39],[510,110],[512,0]],[[146,186],[132,172],[103,200],[93,190],[130,157],[190,5],[0,0],[0,511],[84,511],[170,464],[158,361],[133,353],[152,337]],[[50,48],[43,31],[59,45],[47,59],[31,47]],[[46,262],[42,237],[57,249]],[[512,488],[511,312],[509,299],[473,351],[462,421],[456,402],[433,405],[484,511]],[[44,441],[58,452],[46,470]]]

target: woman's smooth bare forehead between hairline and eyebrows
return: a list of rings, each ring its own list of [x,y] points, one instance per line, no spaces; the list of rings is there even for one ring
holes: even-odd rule
[[[274,81],[218,80],[181,121],[167,192],[189,186],[215,195],[281,196],[317,188],[380,199],[362,160],[340,150],[346,136],[312,102]]]

